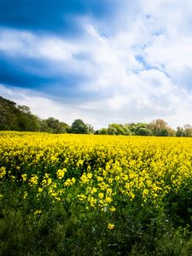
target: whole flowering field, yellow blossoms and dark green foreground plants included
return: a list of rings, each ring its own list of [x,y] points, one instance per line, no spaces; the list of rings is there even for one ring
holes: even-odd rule
[[[0,132],[2,255],[191,255],[192,139]]]

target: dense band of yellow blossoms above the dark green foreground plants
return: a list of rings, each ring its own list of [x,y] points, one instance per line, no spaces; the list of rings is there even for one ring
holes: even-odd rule
[[[176,137],[110,137],[0,133],[0,178],[48,189],[54,200],[78,187],[77,200],[110,210],[119,195],[162,201],[192,181],[192,140]]]

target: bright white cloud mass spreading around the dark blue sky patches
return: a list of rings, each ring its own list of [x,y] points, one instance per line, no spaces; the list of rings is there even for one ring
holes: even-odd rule
[[[94,101],[72,106],[27,96],[22,90],[23,104],[42,117],[47,117],[49,109],[55,118],[69,123],[81,118],[96,127],[115,120],[125,123],[160,117],[174,126],[189,123],[192,93],[186,72],[192,70],[190,1],[141,0],[131,10],[130,3],[122,3],[111,24],[79,18],[84,35],[75,39],[2,31],[1,51],[49,61],[60,73],[82,74],[90,79],[80,84],[82,94],[96,94]],[[12,98],[15,93],[15,101],[22,102],[21,90],[11,89],[12,95],[8,87],[0,90]],[[63,114],[66,112],[70,117]]]

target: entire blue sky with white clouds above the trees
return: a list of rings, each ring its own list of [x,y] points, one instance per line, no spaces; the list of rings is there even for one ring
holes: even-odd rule
[[[0,96],[68,125],[192,125],[191,1],[0,0]]]

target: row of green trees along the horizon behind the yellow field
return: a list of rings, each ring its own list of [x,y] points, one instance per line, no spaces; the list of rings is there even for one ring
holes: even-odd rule
[[[27,106],[17,105],[0,96],[0,130],[1,131],[44,131],[51,133],[135,135],[158,137],[192,137],[192,126],[178,126],[172,129],[163,119],[155,119],[150,123],[110,124],[108,128],[94,130],[82,119],[75,119],[72,125],[67,125],[58,119],[49,117],[40,119],[31,113]]]

